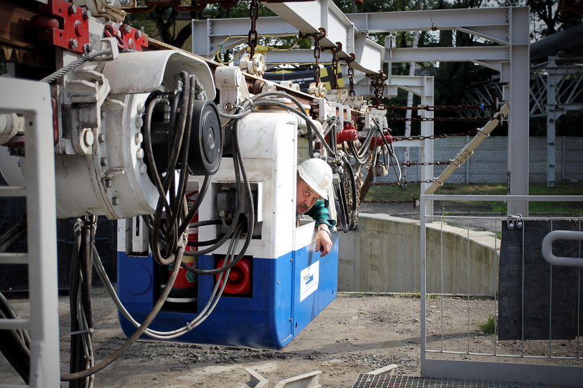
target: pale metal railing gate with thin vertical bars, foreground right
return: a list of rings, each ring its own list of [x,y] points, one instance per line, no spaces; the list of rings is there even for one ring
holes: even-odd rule
[[[428,215],[423,211],[428,201],[583,202],[583,195],[421,195],[420,206],[421,376],[581,385],[583,256],[581,243],[577,240],[583,240],[583,218]],[[475,220],[481,220],[482,224],[491,222],[489,229],[493,232],[492,238],[484,240],[484,244],[490,245],[493,249],[500,249],[498,237],[502,237],[500,256],[491,258],[490,263],[477,263],[477,258],[472,256],[469,244],[472,233],[470,224],[475,223],[473,222]],[[442,225],[446,222],[458,226],[465,225],[468,245],[459,248],[465,251],[460,252],[465,255],[463,261],[444,258],[443,247],[435,247],[440,244],[440,239],[428,236],[429,233],[436,233],[436,230],[439,232],[435,226],[428,228],[428,222],[438,221]],[[541,225],[546,225],[551,233]],[[565,225],[571,228],[568,233],[554,230]],[[543,243],[545,233],[550,237]],[[575,240],[559,245],[559,248],[568,247],[567,251],[570,252],[566,255],[568,257],[556,258],[552,254],[551,245],[558,240]],[[543,259],[543,254],[555,256],[556,260],[561,260],[561,265],[579,267],[568,269],[564,266],[550,265]],[[428,290],[426,268],[436,267],[432,263],[433,260],[440,262],[437,267],[441,268],[441,274],[431,275],[433,279],[436,276],[439,279],[441,276],[441,289],[438,286],[436,290]],[[457,267],[444,268],[443,263],[457,263]],[[477,266],[484,265],[494,267],[491,276],[496,278],[492,281],[498,282],[498,288],[488,297],[483,295],[478,297],[471,292],[473,283],[478,281],[472,279],[472,276],[476,276]],[[543,281],[534,279],[532,268],[537,268],[537,273],[543,274],[541,278]],[[567,272],[564,271],[569,271],[568,275],[565,275]],[[450,297],[444,293],[444,285],[450,278],[459,276],[466,279],[466,292]],[[561,285],[565,279],[571,282],[567,288],[564,284]],[[514,288],[510,288],[508,284]],[[533,288],[536,291],[531,295],[529,293]],[[537,302],[548,310],[536,311],[533,314],[533,305]],[[557,320],[557,315],[561,315],[566,309],[571,320],[568,322],[568,328],[561,330],[562,322]],[[504,326],[500,326],[501,322]],[[460,329],[461,327],[464,329]],[[564,334],[566,332],[568,335]]]

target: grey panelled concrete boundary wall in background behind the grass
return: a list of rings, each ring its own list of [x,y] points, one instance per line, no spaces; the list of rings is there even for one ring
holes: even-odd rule
[[[434,140],[433,161],[449,161],[471,140],[470,136],[453,136]],[[547,139],[531,136],[529,142],[529,181],[547,182]],[[583,137],[557,136],[555,145],[555,178],[560,181],[583,180]],[[396,148],[399,161],[403,161],[403,148]],[[410,148],[409,159],[419,161],[419,148]],[[446,166],[434,166],[437,177]],[[447,183],[500,183],[507,182],[508,137],[491,136],[485,139],[474,151],[466,163],[455,170]],[[376,177],[375,182],[394,182],[395,174],[391,171],[386,177]],[[419,180],[419,167],[407,168],[407,181]]]

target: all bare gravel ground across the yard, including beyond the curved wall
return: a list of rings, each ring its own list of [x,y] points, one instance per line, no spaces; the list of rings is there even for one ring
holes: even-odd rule
[[[440,204],[436,204],[436,212]],[[443,208],[442,208],[443,210]],[[389,213],[419,219],[419,209],[410,204],[363,204],[363,212]],[[447,209],[445,211],[448,211]],[[479,213],[480,209],[462,209]],[[460,221],[463,227],[500,230],[493,220]],[[455,224],[456,222],[448,222]],[[465,223],[465,225],[463,224]],[[102,360],[126,340],[117,321],[115,306],[103,289],[94,290],[96,360]],[[61,367],[68,370],[68,297],[60,297]],[[26,317],[28,301],[16,299],[15,308]],[[321,371],[325,388],[353,387],[360,373],[396,364],[398,376],[420,376],[420,306],[412,297],[339,293],[285,349],[266,351],[169,342],[137,342],[114,364],[97,373],[95,387],[212,387],[253,386],[245,369],[253,369],[273,387],[280,380]],[[496,341],[480,329],[495,315],[496,301],[428,299],[428,349],[461,353],[510,355],[581,355],[577,341]],[[524,353],[523,353],[524,352]],[[578,353],[577,353],[578,352]],[[480,360],[467,354],[428,353],[428,358]],[[484,358],[492,361],[492,358]],[[542,362],[578,365],[582,360],[537,360],[508,358],[504,362]],[[0,383],[22,384],[3,356]],[[63,387],[67,387],[65,383]]]

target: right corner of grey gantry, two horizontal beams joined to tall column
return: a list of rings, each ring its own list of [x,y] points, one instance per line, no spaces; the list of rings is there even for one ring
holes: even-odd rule
[[[500,71],[502,99],[510,103],[508,170],[511,195],[528,193],[528,8],[478,8],[378,12],[348,15],[359,30],[397,32],[459,30],[500,46],[386,48],[391,62],[470,61]],[[463,23],[463,24],[462,24]],[[388,26],[388,27],[387,27]],[[512,85],[512,87],[511,87]],[[525,144],[526,143],[526,144]],[[509,214],[528,214],[523,201],[508,202]]]

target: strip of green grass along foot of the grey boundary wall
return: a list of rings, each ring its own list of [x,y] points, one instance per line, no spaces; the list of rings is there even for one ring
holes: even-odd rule
[[[398,186],[372,186],[366,195],[367,200],[413,200],[419,199],[420,185],[408,184],[405,189]],[[505,184],[444,184],[436,194],[456,195],[506,195]],[[583,182],[562,182],[555,188],[548,188],[546,184],[530,184],[530,195],[582,195]],[[454,202],[451,202],[452,204]],[[461,202],[460,202],[461,203]],[[486,213],[506,214],[505,202],[463,202],[467,205],[480,205]],[[530,202],[530,213],[566,213],[568,215],[583,216],[583,202]]]

